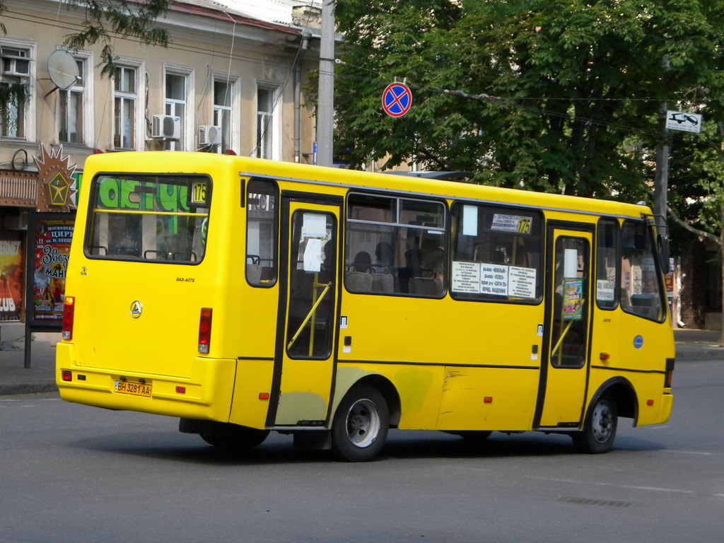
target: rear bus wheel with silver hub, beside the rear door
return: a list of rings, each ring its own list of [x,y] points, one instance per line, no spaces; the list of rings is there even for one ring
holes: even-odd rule
[[[340,460],[372,460],[387,439],[390,412],[372,387],[355,387],[342,398],[332,420],[332,452]]]

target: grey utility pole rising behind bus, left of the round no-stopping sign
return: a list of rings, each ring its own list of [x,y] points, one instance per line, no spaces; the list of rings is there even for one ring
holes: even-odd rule
[[[332,166],[334,145],[334,0],[322,0],[319,43],[319,101],[316,114],[316,163]]]

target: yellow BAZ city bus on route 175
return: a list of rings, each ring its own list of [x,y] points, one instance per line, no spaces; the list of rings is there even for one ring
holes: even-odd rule
[[[64,400],[374,458],[388,429],[480,442],[668,420],[673,332],[646,206],[211,153],[92,156]]]

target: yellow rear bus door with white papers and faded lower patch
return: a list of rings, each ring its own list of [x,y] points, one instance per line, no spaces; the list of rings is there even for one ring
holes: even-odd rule
[[[339,204],[282,197],[279,316],[267,426],[323,426],[334,374]]]

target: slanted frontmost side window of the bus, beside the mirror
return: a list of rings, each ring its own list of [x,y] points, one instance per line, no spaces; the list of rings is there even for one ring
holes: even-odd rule
[[[620,303],[626,313],[663,322],[663,285],[653,233],[645,222],[627,220],[621,229]]]

